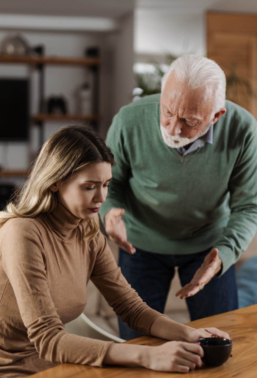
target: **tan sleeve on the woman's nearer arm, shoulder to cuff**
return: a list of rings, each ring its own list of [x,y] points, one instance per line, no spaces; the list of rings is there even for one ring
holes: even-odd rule
[[[2,238],[0,261],[39,357],[53,363],[101,366],[111,342],[65,332],[48,287],[43,239],[33,222],[11,221]]]

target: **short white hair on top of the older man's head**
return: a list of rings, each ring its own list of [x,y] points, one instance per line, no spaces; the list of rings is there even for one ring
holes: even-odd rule
[[[196,89],[206,84],[214,88],[214,114],[225,106],[226,76],[214,60],[203,56],[183,55],[172,62],[169,70],[161,81],[163,91],[166,81],[174,71],[178,81],[185,83],[189,88]]]

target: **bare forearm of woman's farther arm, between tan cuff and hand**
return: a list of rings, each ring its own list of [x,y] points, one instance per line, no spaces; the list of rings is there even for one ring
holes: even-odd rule
[[[194,328],[187,325],[176,323],[166,316],[159,316],[152,324],[150,329],[151,336],[166,340],[189,341],[189,333]]]

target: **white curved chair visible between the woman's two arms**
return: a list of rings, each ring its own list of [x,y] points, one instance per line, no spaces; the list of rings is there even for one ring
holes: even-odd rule
[[[65,331],[68,333],[73,333],[74,335],[90,337],[92,339],[124,342],[125,340],[111,335],[111,333],[98,327],[96,324],[91,322],[88,317],[82,313],[78,318],[72,320],[71,322],[65,324]]]

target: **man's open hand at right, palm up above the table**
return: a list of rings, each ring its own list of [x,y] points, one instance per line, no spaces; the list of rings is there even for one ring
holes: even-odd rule
[[[221,264],[221,259],[218,257],[218,249],[213,248],[205,257],[200,268],[197,269],[191,282],[181,288],[176,293],[176,297],[180,296],[180,299],[183,299],[198,293],[220,271]]]

